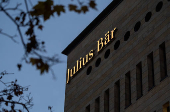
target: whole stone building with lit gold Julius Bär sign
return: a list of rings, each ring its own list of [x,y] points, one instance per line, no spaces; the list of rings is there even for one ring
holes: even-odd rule
[[[170,0],[114,0],[62,53],[65,112],[170,111]]]

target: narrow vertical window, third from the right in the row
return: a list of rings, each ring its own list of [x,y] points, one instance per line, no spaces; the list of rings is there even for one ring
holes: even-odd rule
[[[136,92],[139,99],[142,96],[142,62],[136,65]]]

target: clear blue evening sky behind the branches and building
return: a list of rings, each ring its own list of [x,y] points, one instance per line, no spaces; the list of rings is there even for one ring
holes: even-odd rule
[[[38,2],[38,0],[31,1],[33,5]],[[54,4],[65,4],[68,1],[71,0],[54,0]],[[53,106],[54,112],[64,112],[67,57],[61,54],[61,52],[111,1],[96,0],[98,10],[90,9],[86,14],[66,11],[60,17],[55,15],[44,23],[43,31],[37,31],[39,39],[45,41],[46,55],[58,54],[63,61],[63,63],[53,66],[56,76],[55,80],[50,72],[40,76],[40,72],[36,70],[35,66],[25,64],[24,62],[22,63],[22,70],[18,71],[17,63],[21,62],[24,54],[20,38],[19,36],[16,37],[16,40],[19,42],[19,44],[16,44],[10,38],[0,34],[0,72],[6,70],[8,73],[14,73],[5,76],[3,81],[10,82],[17,79],[22,86],[30,85],[29,92],[31,92],[34,103],[30,112],[48,112],[49,105]],[[15,6],[16,3],[20,2],[23,2],[23,0],[11,0],[10,5]],[[21,8],[25,8],[24,4],[22,4]],[[16,13],[13,16],[15,17]],[[16,26],[2,12],[0,12],[0,29],[3,29],[4,32],[10,35],[18,35]],[[0,83],[0,90],[3,88],[3,84]]]

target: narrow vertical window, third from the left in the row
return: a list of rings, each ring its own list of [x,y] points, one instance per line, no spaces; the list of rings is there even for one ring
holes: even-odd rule
[[[109,112],[109,89],[104,93],[104,112]]]

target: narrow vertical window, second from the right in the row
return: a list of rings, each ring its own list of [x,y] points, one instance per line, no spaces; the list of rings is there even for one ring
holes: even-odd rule
[[[147,64],[148,64],[148,90],[151,90],[155,86],[153,52],[151,52],[147,56]]]

